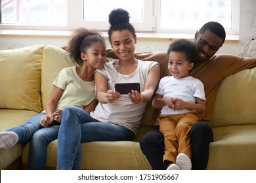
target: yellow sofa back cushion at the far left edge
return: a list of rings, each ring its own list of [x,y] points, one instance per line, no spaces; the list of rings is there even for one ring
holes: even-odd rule
[[[0,108],[41,112],[41,63],[44,45],[0,50]]]

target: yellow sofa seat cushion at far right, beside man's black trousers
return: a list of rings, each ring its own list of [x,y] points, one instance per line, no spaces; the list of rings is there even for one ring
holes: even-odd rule
[[[256,124],[213,127],[207,169],[256,169]]]

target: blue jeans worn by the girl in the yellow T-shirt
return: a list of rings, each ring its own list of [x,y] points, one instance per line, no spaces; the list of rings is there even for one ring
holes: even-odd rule
[[[30,141],[30,154],[28,157],[28,169],[43,169],[47,158],[47,146],[49,142],[57,139],[60,125],[42,127],[41,117],[44,112],[33,116],[23,125],[12,127],[7,131],[14,131],[18,135],[18,142]]]

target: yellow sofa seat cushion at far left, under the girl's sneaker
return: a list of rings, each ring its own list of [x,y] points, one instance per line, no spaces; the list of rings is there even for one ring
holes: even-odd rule
[[[10,127],[24,124],[37,112],[31,110],[0,109],[0,131]],[[0,169],[3,170],[22,154],[22,144],[16,144],[12,148],[0,150]]]

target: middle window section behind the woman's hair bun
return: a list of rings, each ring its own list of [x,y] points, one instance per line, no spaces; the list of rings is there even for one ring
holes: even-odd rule
[[[107,31],[110,27],[108,14],[114,8],[124,8],[129,12],[130,22],[137,31],[152,30],[153,0],[81,0],[75,6],[72,10],[76,14],[74,17],[80,18],[72,19],[72,27],[79,25],[88,29]]]

